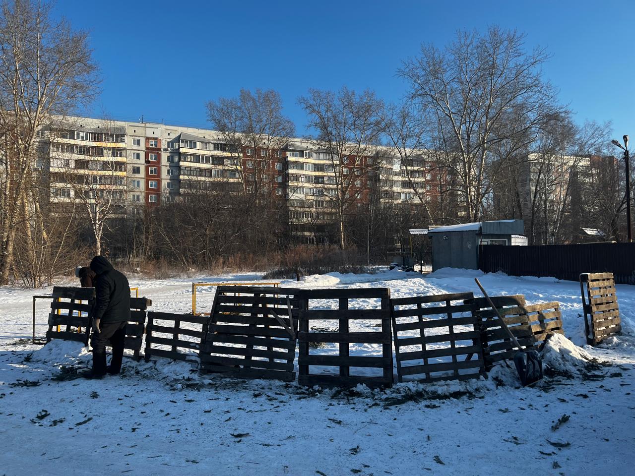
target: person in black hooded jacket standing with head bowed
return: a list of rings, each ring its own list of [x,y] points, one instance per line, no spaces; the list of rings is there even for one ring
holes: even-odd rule
[[[86,378],[102,378],[121,371],[126,323],[130,321],[130,284],[128,279],[104,256],[95,256],[90,268],[97,275],[93,308],[93,369]],[[112,346],[112,359],[106,366],[106,345]]]

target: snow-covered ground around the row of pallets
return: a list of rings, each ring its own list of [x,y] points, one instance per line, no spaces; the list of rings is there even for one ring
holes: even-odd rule
[[[530,304],[561,304],[566,338],[547,344],[549,376],[535,387],[518,388],[515,372],[497,367],[488,380],[338,392],[274,381],[204,380],[187,363],[131,359],[124,361],[123,376],[60,381],[60,366],[88,365],[90,354],[77,343],[30,345],[32,296],[50,289],[1,288],[0,474],[632,474],[634,286],[617,286],[624,335],[592,348],[584,344],[576,282],[469,270],[422,278],[393,270],[282,285],[387,287],[393,298],[479,295],[474,277],[491,295],[525,294]],[[192,281],[259,278],[130,282],[152,299],[152,310],[188,312]],[[200,289],[197,308],[211,307],[213,291]],[[39,336],[47,307],[47,301],[37,302]],[[371,350],[359,348],[361,354]]]

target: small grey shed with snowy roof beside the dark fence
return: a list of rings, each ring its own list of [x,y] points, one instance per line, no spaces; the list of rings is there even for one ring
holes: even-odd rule
[[[478,269],[481,244],[526,245],[523,220],[493,220],[431,228],[432,270],[441,268]]]

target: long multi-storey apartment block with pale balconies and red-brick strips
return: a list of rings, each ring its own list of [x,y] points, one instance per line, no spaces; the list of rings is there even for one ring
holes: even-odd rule
[[[306,140],[281,150],[233,150],[210,129],[75,117],[44,129],[39,160],[50,178],[51,201],[72,202],[81,190],[112,191],[128,209],[159,206],[191,194],[250,193],[266,187],[285,201],[291,233],[306,244],[328,242],[337,205],[360,206],[373,194],[396,206],[438,195],[439,176],[424,159],[401,161],[381,149],[372,157],[333,157]],[[71,176],[79,176],[69,180]],[[425,190],[425,194],[416,194]],[[340,195],[338,195],[340,194]]]

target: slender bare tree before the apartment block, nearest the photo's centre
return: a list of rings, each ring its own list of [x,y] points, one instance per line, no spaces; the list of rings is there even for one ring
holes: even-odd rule
[[[380,157],[378,140],[381,128],[378,112],[382,102],[372,91],[360,95],[347,88],[337,93],[310,89],[298,99],[315,136],[309,138],[330,162],[330,181],[335,187],[325,195],[337,213],[340,248],[345,247],[345,216],[351,206],[364,200],[369,171],[376,169]]]

